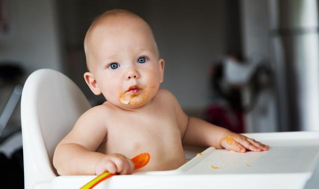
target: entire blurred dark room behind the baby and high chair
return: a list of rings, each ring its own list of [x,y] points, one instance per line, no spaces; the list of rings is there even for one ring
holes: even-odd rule
[[[189,116],[240,133],[319,130],[318,0],[0,0],[1,167],[21,170],[19,98],[35,70],[103,102],[83,79],[83,40],[113,8],[151,25],[161,87]]]

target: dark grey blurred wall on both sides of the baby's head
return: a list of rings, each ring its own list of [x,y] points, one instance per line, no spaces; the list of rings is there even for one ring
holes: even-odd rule
[[[105,10],[128,9],[142,16],[154,31],[166,62],[161,87],[170,90],[185,110],[202,111],[210,103],[212,63],[229,49],[240,48],[238,15],[233,11],[238,7],[233,4],[225,0],[60,1],[64,42],[71,47],[66,50],[68,74],[88,98],[98,99],[83,79],[84,35],[93,18]]]

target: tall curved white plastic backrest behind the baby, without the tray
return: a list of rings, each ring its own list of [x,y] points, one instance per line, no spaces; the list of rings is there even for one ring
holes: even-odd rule
[[[89,108],[81,90],[60,72],[41,69],[28,77],[21,96],[25,189],[57,176],[55,147]]]

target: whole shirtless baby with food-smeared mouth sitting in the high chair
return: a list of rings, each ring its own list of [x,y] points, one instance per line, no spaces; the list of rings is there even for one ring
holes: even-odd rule
[[[186,162],[183,145],[260,152],[254,139],[188,117],[174,95],[160,89],[163,59],[152,29],[138,15],[111,10],[93,21],[84,40],[89,72],[84,79],[107,101],[77,120],[58,144],[59,175],[131,174],[132,157],[148,152],[143,171],[173,170]]]

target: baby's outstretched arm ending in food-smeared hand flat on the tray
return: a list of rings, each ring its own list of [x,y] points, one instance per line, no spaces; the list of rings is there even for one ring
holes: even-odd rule
[[[244,135],[236,134],[226,128],[208,123],[202,119],[188,117],[181,109],[179,103],[173,98],[175,115],[181,130],[183,145],[213,146],[225,148],[237,152],[245,152],[246,149],[260,152],[268,150],[269,146]]]

